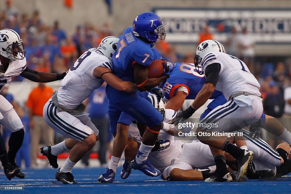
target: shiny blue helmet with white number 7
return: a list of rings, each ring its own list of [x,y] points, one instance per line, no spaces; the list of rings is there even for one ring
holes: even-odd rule
[[[161,40],[166,38],[164,22],[157,14],[152,12],[144,12],[136,16],[132,27],[135,36],[146,38],[151,42],[158,38]]]

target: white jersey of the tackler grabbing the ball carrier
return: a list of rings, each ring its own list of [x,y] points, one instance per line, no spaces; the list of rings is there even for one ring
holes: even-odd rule
[[[61,81],[57,93],[58,103],[66,108],[77,108],[104,82],[103,79],[93,76],[94,69],[107,67],[112,70],[111,66],[111,61],[98,49],[93,48],[84,52]]]

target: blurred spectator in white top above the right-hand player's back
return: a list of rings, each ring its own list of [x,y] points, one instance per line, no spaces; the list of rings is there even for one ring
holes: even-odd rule
[[[249,67],[249,70],[254,74],[254,56],[255,56],[255,49],[254,45],[255,42],[252,36],[248,33],[246,27],[242,29],[242,34],[237,37],[238,42],[238,57],[246,63]]]

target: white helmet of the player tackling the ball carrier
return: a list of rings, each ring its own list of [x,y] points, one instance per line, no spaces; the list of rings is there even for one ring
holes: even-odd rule
[[[111,62],[112,56],[115,51],[117,51],[117,44],[119,38],[116,36],[107,36],[103,38],[98,46],[98,50],[100,50]]]

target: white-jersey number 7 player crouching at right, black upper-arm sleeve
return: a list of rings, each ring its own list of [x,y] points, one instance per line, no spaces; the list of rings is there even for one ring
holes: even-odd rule
[[[251,130],[260,129],[260,127],[257,127],[260,125],[258,123],[261,123],[258,118],[265,118],[265,114],[262,114],[262,102],[259,97],[260,85],[255,77],[249,72],[244,62],[234,56],[226,54],[223,45],[216,40],[206,40],[202,42],[196,49],[194,62],[200,74],[205,72],[207,81],[197,95],[199,98],[197,99],[196,97],[192,105],[181,113],[182,117],[189,118],[196,109],[206,102],[205,99],[207,96],[211,96],[214,89],[216,89],[223,92],[226,99],[229,101],[212,110],[201,122],[220,122],[218,127],[212,129],[212,131],[220,132],[223,130],[226,132],[235,131],[249,124],[252,124]],[[199,68],[198,65],[201,65],[202,69]],[[290,143],[291,133],[283,127],[278,120],[268,115],[266,115],[266,117],[268,120],[266,120],[264,125],[264,127],[267,126],[265,129]],[[256,120],[258,120],[257,123],[254,123]],[[224,126],[230,126],[230,128],[223,129]],[[205,129],[199,130],[203,131]],[[203,142],[206,143],[205,140]],[[220,140],[219,143],[217,141],[207,142],[207,144],[213,146],[212,151],[216,152],[214,156],[219,157],[219,155],[221,155],[222,152],[219,151],[219,149],[223,149],[224,151],[227,150],[227,152],[235,156],[237,164],[240,167],[237,180],[240,180],[246,169],[247,158],[251,159],[252,154],[245,152],[249,157],[246,156],[245,159],[242,159],[243,154],[241,156],[238,154],[242,153],[242,150],[235,148],[231,143],[225,140]],[[214,177],[206,181],[228,181],[222,178],[222,174],[225,172],[223,161],[224,158],[217,159],[217,163],[220,163],[217,170],[218,172]],[[220,170],[220,166],[223,170]],[[217,174],[220,175],[217,176]]]

